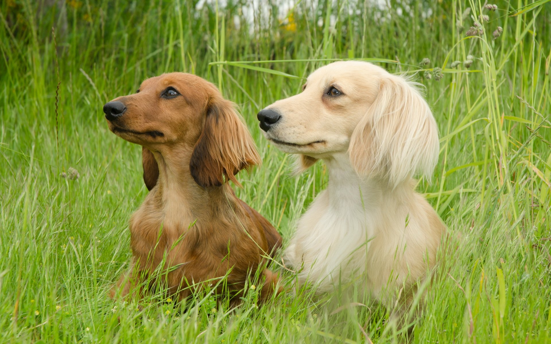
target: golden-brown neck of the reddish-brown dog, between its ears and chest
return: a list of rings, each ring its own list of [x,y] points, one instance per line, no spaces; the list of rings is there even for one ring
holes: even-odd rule
[[[153,152],[159,166],[155,197],[166,216],[171,212],[188,211],[196,219],[210,218],[226,208],[233,208],[233,190],[227,183],[206,188],[196,183],[190,172],[191,154],[192,150],[186,149]]]

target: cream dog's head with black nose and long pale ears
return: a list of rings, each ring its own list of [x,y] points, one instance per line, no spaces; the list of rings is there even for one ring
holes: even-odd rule
[[[348,151],[360,176],[391,185],[434,170],[438,129],[417,84],[374,64],[340,61],[310,74],[302,92],[258,113],[266,138],[300,167]]]

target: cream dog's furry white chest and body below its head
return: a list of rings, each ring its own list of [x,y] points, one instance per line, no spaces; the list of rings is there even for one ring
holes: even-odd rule
[[[426,200],[410,185],[390,192],[381,181],[361,179],[345,155],[326,164],[328,187],[302,215],[285,251],[299,280],[316,281],[320,292],[360,283],[380,297],[388,281],[396,287],[424,276],[423,255],[434,263],[438,245],[428,233],[434,210]]]

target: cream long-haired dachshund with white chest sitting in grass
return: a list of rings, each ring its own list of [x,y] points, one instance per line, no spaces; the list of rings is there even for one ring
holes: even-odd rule
[[[414,83],[371,63],[341,61],[312,73],[302,92],[258,113],[266,138],[322,159],[327,189],[302,215],[285,258],[317,291],[360,285],[401,315],[436,260],[445,227],[413,174],[430,177],[438,130]]]

